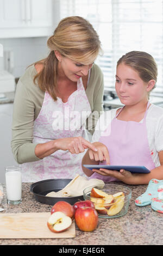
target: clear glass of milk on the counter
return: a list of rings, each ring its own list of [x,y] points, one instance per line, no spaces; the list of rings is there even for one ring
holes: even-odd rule
[[[22,202],[22,174],[18,166],[5,167],[5,185],[8,204]]]

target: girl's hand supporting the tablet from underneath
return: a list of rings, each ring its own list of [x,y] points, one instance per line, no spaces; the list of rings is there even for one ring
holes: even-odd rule
[[[111,176],[118,180],[123,181],[126,184],[135,184],[136,173],[131,173],[128,170],[121,169],[120,172],[118,170],[108,170],[108,169],[92,169],[93,172],[99,173],[104,176]]]

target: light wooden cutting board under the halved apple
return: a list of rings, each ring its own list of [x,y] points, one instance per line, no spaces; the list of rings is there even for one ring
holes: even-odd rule
[[[0,239],[68,238],[76,236],[74,220],[66,231],[53,233],[47,227],[49,212],[0,214]]]

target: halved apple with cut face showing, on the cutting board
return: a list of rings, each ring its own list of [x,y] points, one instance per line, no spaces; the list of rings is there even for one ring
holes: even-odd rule
[[[60,233],[67,230],[72,224],[72,219],[61,211],[56,211],[47,221],[48,228],[54,233]]]

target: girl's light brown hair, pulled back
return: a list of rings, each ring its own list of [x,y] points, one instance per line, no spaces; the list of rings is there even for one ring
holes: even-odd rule
[[[124,63],[137,71],[144,82],[154,80],[155,85],[153,89],[156,87],[158,68],[154,58],[149,53],[142,51],[128,52],[118,60],[117,66],[121,63]]]

